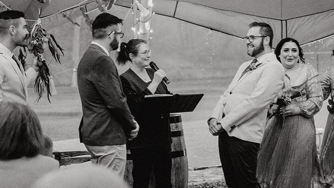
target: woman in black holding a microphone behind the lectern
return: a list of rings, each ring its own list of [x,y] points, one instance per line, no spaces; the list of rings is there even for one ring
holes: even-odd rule
[[[155,187],[171,188],[171,135],[169,113],[140,110],[141,102],[146,95],[170,94],[162,79],[166,73],[159,69],[154,71],[149,66],[151,50],[146,41],[132,39],[121,43],[117,61],[119,64],[131,62],[132,66],[120,78],[127,104],[140,125],[136,139],[128,141],[133,158],[134,188],[149,187],[150,175],[154,170]]]

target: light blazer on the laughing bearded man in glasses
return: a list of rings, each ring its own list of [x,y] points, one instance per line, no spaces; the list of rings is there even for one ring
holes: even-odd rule
[[[283,87],[284,68],[273,52],[257,60],[257,68],[246,72],[242,78],[242,72],[251,61],[239,67],[211,118],[216,118],[229,136],[261,143],[269,104]],[[223,112],[225,118],[222,119]]]

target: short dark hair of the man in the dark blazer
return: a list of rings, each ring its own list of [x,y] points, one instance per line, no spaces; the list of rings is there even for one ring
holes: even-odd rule
[[[93,39],[103,39],[109,34],[106,28],[117,24],[123,24],[123,20],[106,12],[99,14],[91,25]]]

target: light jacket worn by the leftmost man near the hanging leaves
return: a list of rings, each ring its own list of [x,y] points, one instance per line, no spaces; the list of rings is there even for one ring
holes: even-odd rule
[[[18,68],[12,55],[9,49],[0,44],[0,102],[27,105],[27,86],[34,82],[37,73],[31,67],[24,71],[21,63],[19,64],[20,68]]]

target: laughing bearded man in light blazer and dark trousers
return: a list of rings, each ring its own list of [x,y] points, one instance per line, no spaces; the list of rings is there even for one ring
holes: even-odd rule
[[[256,162],[269,104],[283,87],[284,69],[271,50],[273,31],[266,23],[251,23],[244,41],[254,60],[237,70],[208,120],[219,135],[219,157],[229,188],[260,187]],[[261,162],[261,161],[259,161]]]

